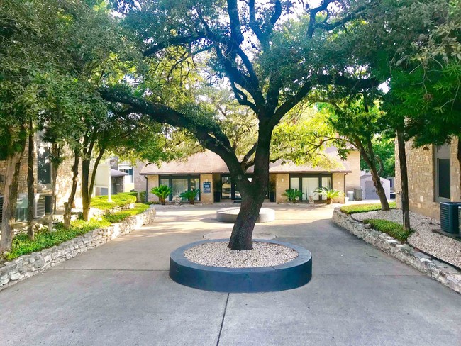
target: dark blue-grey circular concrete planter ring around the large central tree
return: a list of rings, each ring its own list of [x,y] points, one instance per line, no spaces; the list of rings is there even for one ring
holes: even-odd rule
[[[192,242],[174,250],[170,255],[172,280],[195,289],[230,293],[284,291],[304,286],[311,280],[311,252],[303,247],[276,240],[262,242],[291,247],[298,252],[298,257],[274,267],[257,268],[209,267],[191,262],[184,257],[184,251],[191,247],[216,241],[227,241],[227,239]]]

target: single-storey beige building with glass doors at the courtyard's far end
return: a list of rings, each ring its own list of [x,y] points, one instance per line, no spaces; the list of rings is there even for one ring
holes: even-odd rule
[[[352,150],[345,161],[339,159],[334,148],[328,148],[326,155],[338,162],[338,167],[328,170],[307,165],[282,164],[282,161],[271,163],[270,185],[274,187],[275,201],[287,201],[287,197],[282,196],[287,189],[300,189],[304,193],[303,200],[311,199],[321,203],[324,198],[313,192],[318,187],[333,187],[344,192],[360,186],[359,152]],[[186,160],[162,163],[160,167],[148,164],[141,169],[140,176],[145,178],[144,182],[142,179],[135,179],[135,188],[138,191],[148,191],[149,201],[158,201],[150,189],[159,185],[172,188],[170,201],[177,201],[179,194],[189,189],[200,189],[196,199],[202,203],[240,199],[228,167],[221,157],[209,150],[192,155]],[[252,168],[248,169],[248,178],[251,179],[251,176]],[[335,202],[343,203],[344,194],[335,199]]]

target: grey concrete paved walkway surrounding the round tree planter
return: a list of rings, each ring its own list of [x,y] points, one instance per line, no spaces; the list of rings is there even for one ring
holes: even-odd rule
[[[460,294],[335,227],[331,207],[274,208],[256,230],[311,250],[306,286],[174,283],[170,252],[232,225],[216,206],[160,207],[152,225],[1,291],[0,345],[461,345]]]

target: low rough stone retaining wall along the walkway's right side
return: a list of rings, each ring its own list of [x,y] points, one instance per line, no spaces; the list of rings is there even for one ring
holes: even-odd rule
[[[432,259],[408,244],[401,244],[391,236],[371,229],[370,225],[355,221],[347,214],[342,213],[339,208],[335,208],[331,220],[379,250],[411,265],[411,267],[450,287],[453,291],[461,293],[461,271],[455,267]]]

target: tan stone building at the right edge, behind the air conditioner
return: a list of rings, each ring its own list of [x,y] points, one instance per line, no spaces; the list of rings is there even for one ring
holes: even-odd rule
[[[439,219],[440,202],[461,201],[457,139],[452,140],[450,145],[426,145],[420,148],[413,148],[411,143],[406,143],[406,164],[411,211]],[[401,206],[397,148],[395,191],[397,206]]]

